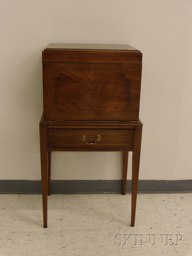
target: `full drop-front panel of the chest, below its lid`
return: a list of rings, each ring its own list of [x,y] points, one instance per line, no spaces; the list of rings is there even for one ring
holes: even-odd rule
[[[141,64],[43,63],[44,120],[139,120]]]

